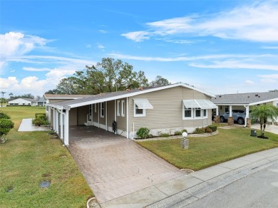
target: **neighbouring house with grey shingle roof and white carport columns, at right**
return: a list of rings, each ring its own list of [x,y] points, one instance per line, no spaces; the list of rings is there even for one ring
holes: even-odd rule
[[[246,126],[252,106],[270,104],[278,107],[278,92],[216,95],[215,98],[212,98],[212,102],[218,107],[216,115],[229,112],[231,117],[232,110],[244,110]]]

